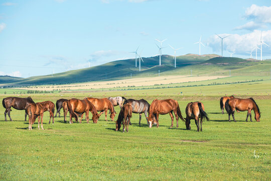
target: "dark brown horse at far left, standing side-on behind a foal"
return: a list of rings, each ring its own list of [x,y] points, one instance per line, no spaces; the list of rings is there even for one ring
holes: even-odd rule
[[[2,101],[2,104],[4,106],[4,108],[6,108],[5,111],[5,121],[7,121],[7,113],[11,119],[11,107],[13,107],[14,109],[17,110],[26,110],[28,105],[30,103],[34,103],[34,101],[31,99],[31,97],[27,97],[27,98],[16,98],[16,97],[8,97],[8,98],[4,98]],[[25,121],[26,121],[26,117],[27,117],[27,112],[25,113]]]

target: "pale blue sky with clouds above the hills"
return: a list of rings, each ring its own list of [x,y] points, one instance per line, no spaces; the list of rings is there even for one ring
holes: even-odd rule
[[[155,39],[167,39],[163,54],[249,58],[263,41],[271,47],[271,1],[0,0],[0,75],[29,77],[158,54]],[[263,58],[271,48],[262,46]],[[258,59],[260,57],[258,50]],[[255,58],[255,52],[252,53]],[[89,61],[89,63],[88,63]]]

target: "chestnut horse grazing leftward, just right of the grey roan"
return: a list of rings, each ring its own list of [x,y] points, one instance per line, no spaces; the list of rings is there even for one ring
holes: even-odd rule
[[[159,127],[159,114],[165,115],[165,114],[170,114],[171,117],[171,128],[173,127],[173,113],[175,114],[175,118],[177,121],[177,128],[179,127],[179,117],[184,121],[184,118],[182,116],[179,104],[176,100],[173,99],[167,99],[167,100],[157,100],[155,99],[153,103],[150,106],[149,109],[149,117],[148,121],[150,124],[150,128],[153,125],[153,117],[155,116],[156,121],[157,121],[157,128]],[[179,117],[178,117],[179,116]]]

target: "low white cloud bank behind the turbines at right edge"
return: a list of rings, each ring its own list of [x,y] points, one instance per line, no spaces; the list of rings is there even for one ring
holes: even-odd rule
[[[220,34],[219,36],[229,37],[223,39],[223,51],[228,50],[230,52],[236,52],[236,54],[245,55],[245,52],[250,52],[255,45],[260,45],[260,31],[254,30],[251,33],[244,35],[239,34]],[[271,45],[271,30],[262,31],[262,41],[269,46]],[[211,47],[213,51],[220,54],[221,51],[221,39],[217,35],[213,35],[208,39],[207,46]],[[262,45],[262,54],[270,54],[271,48]]]

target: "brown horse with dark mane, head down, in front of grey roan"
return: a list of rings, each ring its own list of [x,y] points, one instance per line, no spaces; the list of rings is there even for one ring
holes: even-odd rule
[[[122,132],[123,133],[125,132],[125,127],[126,127],[126,131],[128,132],[131,114],[132,114],[132,106],[130,104],[123,105],[122,108],[120,109],[120,112],[116,121],[116,131],[120,129],[121,123],[122,123],[122,126],[123,126]]]

